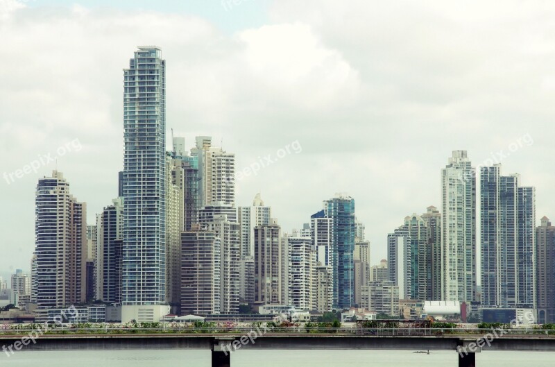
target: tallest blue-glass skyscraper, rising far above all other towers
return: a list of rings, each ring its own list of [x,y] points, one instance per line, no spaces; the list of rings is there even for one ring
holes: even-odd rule
[[[166,62],[159,48],[139,47],[123,73],[121,302],[126,318],[151,314],[138,306],[166,302]]]

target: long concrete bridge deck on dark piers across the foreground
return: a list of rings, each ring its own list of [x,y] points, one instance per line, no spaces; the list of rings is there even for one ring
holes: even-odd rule
[[[44,334],[33,342],[29,334],[1,334],[3,350],[137,350],[198,349],[212,351],[212,366],[230,366],[230,355],[238,349],[261,350],[453,350],[460,367],[475,366],[475,353],[486,350],[555,351],[552,334],[432,334],[354,335],[309,334],[307,332],[264,332],[244,330],[224,333],[152,334]],[[489,333],[489,334],[488,334]],[[26,338],[26,342],[23,339]],[[30,339],[31,338],[31,339]],[[23,342],[22,342],[23,341]],[[17,348],[19,347],[19,348]]]

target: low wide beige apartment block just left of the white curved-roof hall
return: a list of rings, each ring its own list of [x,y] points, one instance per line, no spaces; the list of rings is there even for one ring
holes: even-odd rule
[[[393,282],[371,282],[362,287],[361,307],[377,314],[399,315],[399,286]]]

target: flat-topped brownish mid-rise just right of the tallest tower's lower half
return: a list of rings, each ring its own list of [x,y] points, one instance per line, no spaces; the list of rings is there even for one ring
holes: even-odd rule
[[[219,314],[221,239],[215,232],[181,234],[180,314]]]

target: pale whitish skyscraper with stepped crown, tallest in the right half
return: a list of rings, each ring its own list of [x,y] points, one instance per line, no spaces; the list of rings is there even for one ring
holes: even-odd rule
[[[476,298],[476,171],[466,151],[441,170],[442,300]]]

